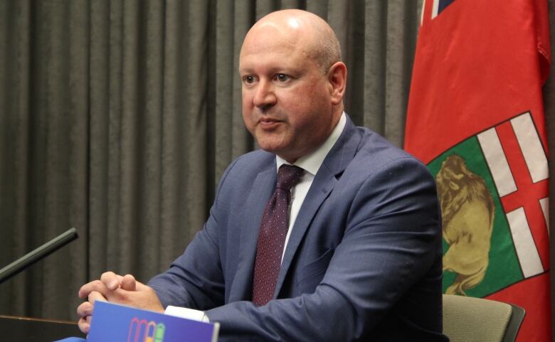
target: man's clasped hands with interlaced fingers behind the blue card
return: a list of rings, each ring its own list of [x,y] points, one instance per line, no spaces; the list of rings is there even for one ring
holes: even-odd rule
[[[79,289],[79,298],[87,299],[77,308],[78,326],[83,333],[89,332],[90,316],[93,314],[93,308],[97,300],[164,312],[164,307],[154,289],[137,282],[131,274],[121,276],[114,272],[105,272],[100,280],[94,280],[83,285]]]

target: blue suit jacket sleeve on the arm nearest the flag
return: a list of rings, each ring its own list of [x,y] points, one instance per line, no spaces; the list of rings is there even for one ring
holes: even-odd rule
[[[355,341],[438,264],[438,201],[423,164],[390,161],[349,196],[342,242],[315,291],[206,311],[221,324],[218,341]]]

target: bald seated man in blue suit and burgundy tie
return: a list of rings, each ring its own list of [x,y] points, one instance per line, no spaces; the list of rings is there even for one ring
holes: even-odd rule
[[[219,341],[447,341],[435,183],[344,114],[332,29],[274,12],[250,29],[239,64],[243,119],[262,150],[228,167],[203,230],[149,286],[112,272],[83,285],[80,328],[100,299],[203,311]],[[282,169],[300,176],[291,193],[275,188]],[[290,207],[273,206],[283,196]],[[277,237],[274,225],[286,225]]]

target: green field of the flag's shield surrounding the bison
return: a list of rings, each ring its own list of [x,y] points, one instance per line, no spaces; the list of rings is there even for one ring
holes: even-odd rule
[[[473,136],[465,141],[462,141],[460,144],[453,146],[451,149],[448,149],[448,151],[445,151],[443,154],[440,154],[440,156],[431,161],[428,164],[428,169],[430,169],[431,173],[433,173],[433,176],[437,178],[442,166],[444,166],[443,172],[453,172],[453,170],[447,171],[448,169],[446,169],[449,167],[446,165],[446,161],[448,161],[450,156],[460,156],[465,163],[467,171],[483,180],[483,183],[485,183],[485,190],[490,193],[492,198],[494,209],[493,220],[490,227],[483,225],[465,225],[465,223],[462,223],[465,227],[462,228],[463,231],[458,232],[458,240],[466,240],[466,243],[458,244],[462,245],[462,248],[458,250],[458,257],[462,258],[462,260],[468,259],[467,256],[469,254],[474,254],[475,257],[470,258],[471,260],[469,260],[466,266],[461,265],[459,269],[456,270],[445,270],[443,273],[443,292],[445,292],[455,282],[464,283],[465,279],[472,277],[474,278],[474,282],[476,282],[476,279],[482,278],[477,284],[472,284],[472,281],[470,284],[467,283],[467,286],[469,287],[464,288],[463,291],[468,296],[483,297],[488,294],[492,294],[493,292],[497,292],[499,289],[503,289],[511,284],[519,282],[524,279],[524,276],[519,264],[517,252],[514,248],[512,234],[509,224],[507,223],[507,217],[502,208],[497,188],[495,187],[495,182],[493,181],[485,156],[482,153],[482,148],[480,147],[480,142],[478,141],[477,136]],[[453,159],[453,157],[451,159]],[[465,186],[472,186],[471,183],[465,183],[464,178],[468,177],[468,175],[458,173],[454,174],[453,177],[458,178],[454,181],[458,181],[459,183],[458,185],[455,183],[451,184],[452,187],[458,187],[459,191],[472,191],[472,189],[469,188],[463,189]],[[438,185],[438,191],[440,190],[439,188],[440,186]],[[474,201],[475,203],[471,205],[480,205],[480,203],[477,203],[480,201],[480,198],[476,198],[477,196],[474,197],[475,198],[470,199],[468,202]],[[460,220],[464,221],[465,218],[459,218],[459,221]],[[468,221],[472,219],[466,218],[466,220]],[[482,220],[482,222],[483,221],[484,220]],[[445,224],[445,222],[444,225],[443,255],[446,255],[450,248],[455,247],[457,243],[455,242],[450,244],[445,240],[445,230],[460,229],[460,225],[458,228],[450,227],[449,223]],[[491,230],[490,234],[483,232],[483,230],[488,229]],[[477,230],[482,230],[482,232],[478,232]],[[485,235],[487,235],[489,241],[482,240],[479,244],[475,243],[477,241],[473,241],[473,239],[483,238]],[[474,247],[477,246],[480,246],[482,250],[473,250]],[[487,246],[488,250],[484,250],[484,246]],[[481,269],[484,264],[485,269]],[[447,265],[444,265],[444,267],[445,266]],[[480,272],[482,274],[477,274]]]

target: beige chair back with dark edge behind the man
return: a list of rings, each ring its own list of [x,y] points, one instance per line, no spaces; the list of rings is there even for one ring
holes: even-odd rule
[[[501,301],[443,294],[443,333],[451,342],[513,342],[524,314]]]

